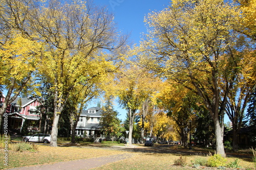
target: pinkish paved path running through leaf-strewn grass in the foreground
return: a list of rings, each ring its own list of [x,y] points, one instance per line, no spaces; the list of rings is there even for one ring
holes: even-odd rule
[[[132,157],[134,154],[124,153],[118,155],[103,156],[97,158],[80,159],[69,162],[58,162],[48,165],[37,165],[37,166],[25,166],[12,168],[11,170],[80,170],[80,169],[91,169],[99,167],[111,162],[116,162]]]

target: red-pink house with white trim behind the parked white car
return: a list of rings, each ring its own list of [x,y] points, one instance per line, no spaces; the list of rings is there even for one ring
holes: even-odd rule
[[[1,99],[1,102],[4,101],[4,98]],[[20,130],[27,120],[28,130],[38,131],[40,115],[35,111],[36,106],[39,105],[40,103],[35,99],[17,98],[13,101],[6,109],[9,130]]]

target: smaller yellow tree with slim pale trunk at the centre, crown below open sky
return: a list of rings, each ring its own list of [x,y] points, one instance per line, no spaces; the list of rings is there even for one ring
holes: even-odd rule
[[[158,79],[138,65],[128,63],[112,82],[113,95],[117,96],[120,105],[127,110],[129,117],[129,143],[132,143],[134,118],[142,102],[154,93],[154,82]]]

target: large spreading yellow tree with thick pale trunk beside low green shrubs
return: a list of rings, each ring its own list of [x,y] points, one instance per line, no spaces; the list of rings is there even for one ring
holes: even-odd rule
[[[224,157],[224,113],[234,79],[230,77],[225,88],[220,86],[219,63],[224,55],[231,60],[237,50],[242,35],[233,25],[239,15],[232,4],[220,0],[176,0],[147,15],[148,34],[141,43],[140,61],[145,67],[200,96],[215,123],[217,154]]]

